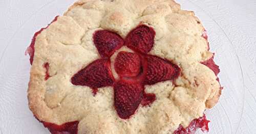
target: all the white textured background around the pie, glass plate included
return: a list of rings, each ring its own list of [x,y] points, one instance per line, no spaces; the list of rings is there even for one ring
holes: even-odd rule
[[[74,0],[0,0],[0,133],[49,133],[28,109],[29,57],[37,30]],[[220,103],[206,112],[209,133],[256,133],[256,1],[179,0],[208,31],[221,68]],[[198,131],[198,133],[201,133]]]

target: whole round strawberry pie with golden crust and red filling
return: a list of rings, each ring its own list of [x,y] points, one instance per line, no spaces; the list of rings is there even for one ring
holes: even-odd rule
[[[35,33],[29,108],[51,133],[208,131],[219,66],[173,0],[81,0]]]

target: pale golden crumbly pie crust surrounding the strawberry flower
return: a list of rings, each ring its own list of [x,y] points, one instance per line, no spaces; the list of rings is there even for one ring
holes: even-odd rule
[[[93,96],[89,87],[75,86],[71,77],[100,58],[93,43],[99,29],[123,38],[138,24],[156,31],[151,55],[173,61],[181,68],[174,82],[145,86],[155,93],[150,106],[139,106],[127,120],[114,109],[112,87]],[[79,121],[79,134],[166,134],[203,116],[220,96],[217,76],[201,64],[212,57],[201,21],[194,12],[180,9],[173,0],[81,0],[76,2],[36,38],[28,99],[33,114],[55,124]],[[125,48],[124,48],[125,49]],[[115,54],[114,54],[115,55]],[[50,78],[46,81],[49,63]]]

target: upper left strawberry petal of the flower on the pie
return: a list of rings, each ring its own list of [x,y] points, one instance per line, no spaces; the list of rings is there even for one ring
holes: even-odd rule
[[[96,31],[93,35],[93,41],[102,58],[111,57],[124,42],[121,36],[108,30]]]

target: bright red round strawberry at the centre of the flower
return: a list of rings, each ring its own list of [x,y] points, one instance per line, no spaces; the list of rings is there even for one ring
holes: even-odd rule
[[[114,66],[120,76],[137,76],[141,69],[140,57],[136,53],[121,51],[115,59]]]

